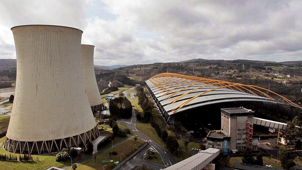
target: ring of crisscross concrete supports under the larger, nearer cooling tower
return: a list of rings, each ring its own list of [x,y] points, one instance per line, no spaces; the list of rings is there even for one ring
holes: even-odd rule
[[[95,126],[93,129],[72,137],[63,139],[55,139],[48,141],[17,141],[5,137],[3,148],[8,152],[21,153],[21,154],[43,154],[59,152],[63,148],[70,149],[71,147],[80,147],[86,144],[87,141],[92,141],[99,136],[100,132],[98,127]]]

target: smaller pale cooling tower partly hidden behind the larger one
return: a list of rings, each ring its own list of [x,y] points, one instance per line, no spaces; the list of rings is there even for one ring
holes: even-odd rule
[[[93,64],[93,45],[81,45],[82,73],[85,83],[86,94],[93,113],[103,110],[103,101],[98,90],[98,84],[95,79]]]

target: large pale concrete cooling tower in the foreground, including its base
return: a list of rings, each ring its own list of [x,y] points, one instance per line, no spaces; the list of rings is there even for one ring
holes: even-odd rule
[[[96,138],[81,69],[82,31],[53,25],[11,30],[17,78],[5,149],[50,153]]]

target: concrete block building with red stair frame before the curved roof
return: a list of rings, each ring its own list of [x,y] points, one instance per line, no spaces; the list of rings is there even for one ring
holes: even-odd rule
[[[243,151],[247,146],[258,150],[258,135],[252,135],[254,112],[243,107],[221,109],[221,129],[207,135],[207,148]],[[247,136],[248,134],[248,136]]]

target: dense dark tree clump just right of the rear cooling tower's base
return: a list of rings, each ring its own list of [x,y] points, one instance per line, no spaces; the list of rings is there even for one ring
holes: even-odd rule
[[[111,116],[120,119],[128,119],[132,115],[132,105],[127,97],[116,97],[109,102]]]

